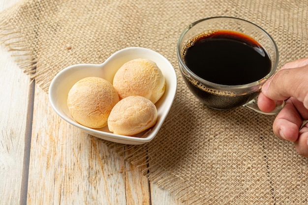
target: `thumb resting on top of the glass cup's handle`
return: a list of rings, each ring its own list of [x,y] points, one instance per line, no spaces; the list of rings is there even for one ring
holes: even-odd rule
[[[295,68],[283,67],[263,85],[262,93],[272,100],[295,97],[308,108],[308,64]]]

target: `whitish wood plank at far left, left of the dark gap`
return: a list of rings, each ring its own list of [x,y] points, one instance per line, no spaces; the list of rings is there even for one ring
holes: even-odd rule
[[[18,0],[2,0],[0,11]],[[20,204],[30,79],[0,46],[0,205]],[[27,145],[26,145],[27,146]],[[27,157],[27,156],[26,156]],[[25,164],[27,167],[28,165]],[[27,186],[27,184],[25,184]]]

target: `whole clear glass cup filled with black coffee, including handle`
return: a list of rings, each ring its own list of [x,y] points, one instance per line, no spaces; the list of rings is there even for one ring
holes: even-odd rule
[[[206,106],[230,110],[245,106],[262,114],[257,97],[276,71],[278,49],[261,27],[234,17],[211,17],[182,32],[177,55],[185,84]]]

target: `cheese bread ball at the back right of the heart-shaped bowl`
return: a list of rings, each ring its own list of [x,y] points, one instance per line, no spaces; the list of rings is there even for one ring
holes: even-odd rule
[[[139,95],[154,104],[166,88],[165,78],[156,63],[149,59],[133,59],[123,64],[113,79],[120,99]]]

